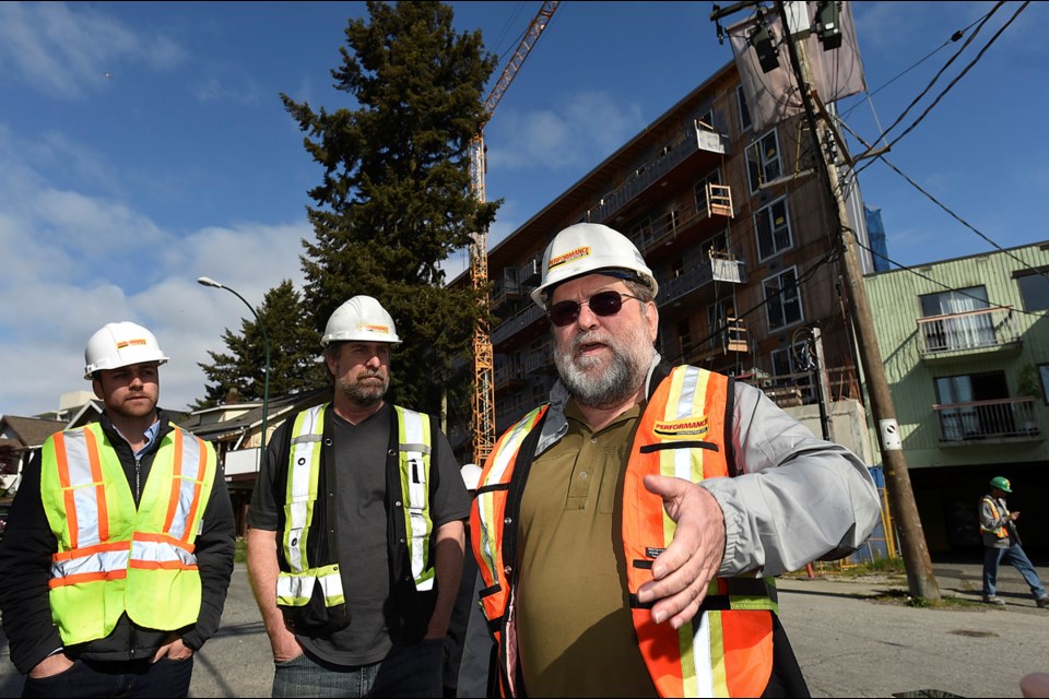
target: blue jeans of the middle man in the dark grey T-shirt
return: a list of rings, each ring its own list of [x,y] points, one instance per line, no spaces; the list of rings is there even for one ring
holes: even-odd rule
[[[275,663],[273,697],[443,697],[445,641],[397,645],[370,665],[340,666],[303,653]]]

